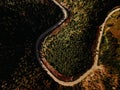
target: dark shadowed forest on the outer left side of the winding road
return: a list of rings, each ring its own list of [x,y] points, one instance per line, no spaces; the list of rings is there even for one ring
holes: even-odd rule
[[[13,90],[35,88],[38,82],[46,85],[35,44],[61,17],[61,10],[52,2],[0,1],[0,87]]]

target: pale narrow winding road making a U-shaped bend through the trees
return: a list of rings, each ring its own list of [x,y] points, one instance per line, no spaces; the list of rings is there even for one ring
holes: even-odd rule
[[[93,66],[86,72],[84,73],[82,76],[80,76],[78,79],[74,80],[74,81],[62,81],[60,79],[58,79],[57,77],[55,77],[55,75],[53,75],[53,73],[46,67],[46,65],[44,64],[44,62],[41,60],[42,57],[40,56],[40,46],[42,43],[42,40],[49,35],[52,31],[54,31],[58,26],[60,26],[67,18],[68,18],[68,14],[66,9],[61,6],[56,0],[52,0],[63,12],[64,17],[58,22],[56,23],[54,26],[52,26],[51,28],[49,28],[45,33],[43,33],[42,35],[40,35],[40,37],[37,40],[36,43],[36,56],[38,61],[40,62],[41,66],[44,68],[45,71],[47,71],[48,75],[54,79],[54,81],[56,81],[57,83],[63,85],[63,86],[74,86],[75,84],[79,83],[80,81],[82,81],[85,77],[87,77],[91,72],[93,72],[94,70],[98,69],[98,59],[99,59],[99,49],[100,49],[100,44],[101,44],[101,40],[102,40],[102,35],[103,35],[103,30],[104,30],[104,26],[106,21],[109,19],[109,17],[117,10],[120,10],[120,8],[113,10],[111,13],[108,14],[107,18],[105,19],[104,23],[101,26],[101,29],[98,32],[98,37],[97,37],[97,45],[95,47],[95,52],[94,52],[94,64]]]

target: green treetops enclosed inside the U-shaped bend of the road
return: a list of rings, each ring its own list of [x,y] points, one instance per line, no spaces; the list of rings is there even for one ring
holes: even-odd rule
[[[82,75],[94,63],[91,47],[96,31],[114,2],[59,0],[61,1],[70,11],[69,23],[58,34],[50,34],[45,38],[42,56],[66,76]],[[106,6],[108,7],[105,8]]]

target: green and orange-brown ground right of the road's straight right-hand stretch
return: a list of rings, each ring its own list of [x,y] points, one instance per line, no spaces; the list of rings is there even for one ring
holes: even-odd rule
[[[100,50],[100,62],[120,72],[120,11],[107,20]]]

